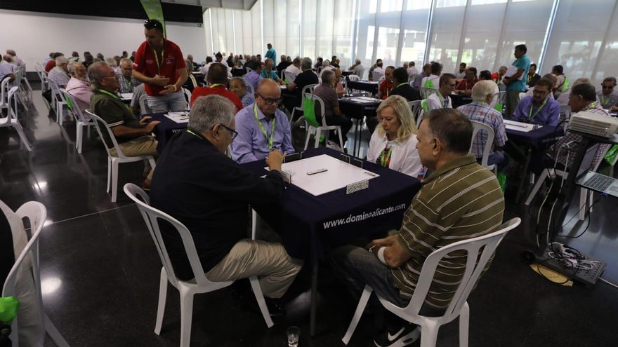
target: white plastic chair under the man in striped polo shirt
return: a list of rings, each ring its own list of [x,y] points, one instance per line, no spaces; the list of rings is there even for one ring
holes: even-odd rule
[[[433,251],[423,263],[419,282],[416,284],[416,289],[414,290],[414,294],[412,294],[412,299],[410,299],[408,306],[399,307],[378,296],[379,301],[388,311],[408,322],[421,326],[421,347],[435,346],[436,339],[438,338],[438,329],[440,329],[442,325],[452,322],[455,318],[459,317],[459,346],[467,347],[468,323],[470,320],[470,307],[467,301],[468,296],[474,289],[479,276],[487,265],[487,261],[492,257],[501,240],[506,236],[508,231],[518,226],[520,222],[520,218],[513,218],[502,224],[499,231],[485,236],[479,236],[478,238],[461,240]],[[446,309],[445,314],[441,317],[425,317],[419,315],[419,311],[425,302],[438,263],[446,257],[447,254],[459,250],[467,252],[466,271],[463,273],[459,287]],[[346,345],[350,342],[350,338],[356,329],[362,311],[364,311],[364,307],[367,305],[367,301],[369,301],[369,296],[372,292],[372,288],[369,287],[369,285],[365,285],[352,322],[350,322],[348,331],[342,339],[343,343],[346,343]]]

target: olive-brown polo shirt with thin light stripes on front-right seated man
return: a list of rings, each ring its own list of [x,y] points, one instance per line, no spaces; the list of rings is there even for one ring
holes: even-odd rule
[[[398,240],[410,259],[393,268],[400,296],[412,298],[425,259],[440,247],[497,231],[504,195],[494,174],[467,154],[446,163],[425,179],[405,212]],[[492,256],[493,257],[493,256]],[[487,267],[491,263],[487,263]],[[446,308],[466,269],[466,253],[453,252],[436,268],[426,303]],[[485,268],[487,270],[487,268]]]

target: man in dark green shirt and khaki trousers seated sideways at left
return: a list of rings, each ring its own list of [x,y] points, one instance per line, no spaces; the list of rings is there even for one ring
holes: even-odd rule
[[[95,62],[88,68],[93,95],[90,100],[90,111],[112,129],[114,138],[125,156],[157,156],[157,140],[148,134],[152,132],[159,121],[148,122],[151,117],[138,118],[131,112],[120,97],[117,75],[105,62]],[[103,132],[103,142],[110,149],[112,156],[117,156],[116,148],[107,132]],[[142,186],[150,189],[150,179],[155,168],[150,168]]]

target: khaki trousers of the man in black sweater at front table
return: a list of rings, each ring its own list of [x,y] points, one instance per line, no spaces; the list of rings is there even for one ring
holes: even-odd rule
[[[258,276],[264,296],[280,298],[302,266],[302,261],[292,259],[280,243],[245,238],[205,275],[214,282]]]

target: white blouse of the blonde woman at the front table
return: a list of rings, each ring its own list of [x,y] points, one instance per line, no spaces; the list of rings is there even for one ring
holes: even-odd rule
[[[388,168],[405,173],[412,177],[419,177],[423,170],[419,151],[416,150],[416,135],[411,135],[405,142],[388,141],[386,134],[380,136],[376,129],[372,135],[372,140],[369,141],[369,151],[367,152],[367,161],[376,163],[380,158],[382,151],[388,145],[393,149],[390,154],[390,164]]]

